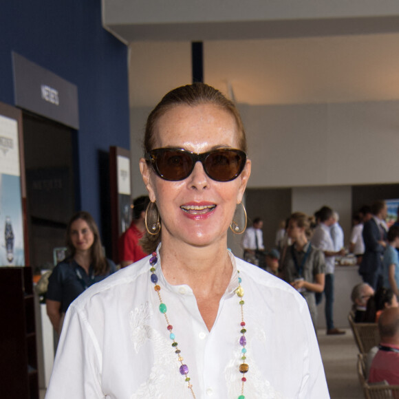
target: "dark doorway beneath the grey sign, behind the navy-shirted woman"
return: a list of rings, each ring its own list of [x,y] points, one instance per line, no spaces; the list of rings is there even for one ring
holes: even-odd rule
[[[30,265],[52,268],[54,248],[65,246],[65,229],[76,209],[76,131],[23,114]]]

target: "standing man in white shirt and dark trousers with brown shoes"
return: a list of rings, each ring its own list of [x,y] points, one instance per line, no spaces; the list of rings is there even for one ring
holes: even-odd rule
[[[312,245],[323,251],[325,256],[325,321],[327,324],[327,335],[345,334],[345,331],[334,327],[333,303],[334,303],[334,268],[335,257],[345,255],[345,250],[336,251],[330,235],[330,227],[334,224],[332,208],[323,206],[317,211],[319,224],[314,229]]]

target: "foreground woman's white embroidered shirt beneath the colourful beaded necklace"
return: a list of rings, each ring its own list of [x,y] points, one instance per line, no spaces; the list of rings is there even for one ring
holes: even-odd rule
[[[303,297],[268,272],[230,257],[233,274],[211,332],[191,288],[170,285],[160,260],[155,266],[197,399],[241,394],[237,268],[245,292],[246,398],[329,398]],[[46,399],[193,399],[158,310],[149,268],[146,257],[92,285],[69,306]]]

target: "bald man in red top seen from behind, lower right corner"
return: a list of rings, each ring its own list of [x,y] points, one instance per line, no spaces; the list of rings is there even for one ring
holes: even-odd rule
[[[380,346],[371,362],[369,382],[399,385],[399,308],[387,308],[378,319]]]

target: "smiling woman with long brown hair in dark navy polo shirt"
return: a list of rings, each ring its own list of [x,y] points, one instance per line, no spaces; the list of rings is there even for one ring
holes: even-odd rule
[[[69,220],[66,236],[69,257],[54,268],[46,294],[47,314],[58,334],[72,301],[116,271],[115,263],[103,255],[98,228],[89,213],[76,213]]]

